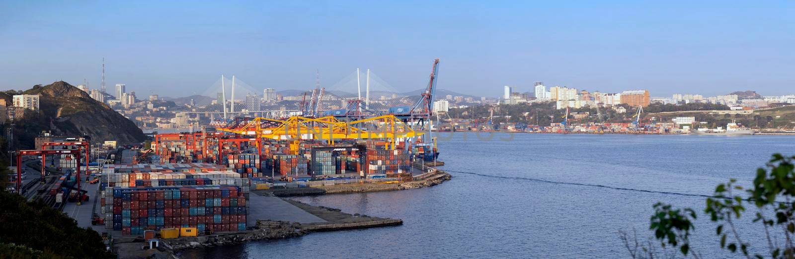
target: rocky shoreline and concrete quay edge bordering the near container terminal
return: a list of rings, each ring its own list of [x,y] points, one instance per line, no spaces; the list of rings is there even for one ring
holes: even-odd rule
[[[162,256],[169,258],[180,258],[182,253],[191,249],[205,249],[220,245],[239,245],[246,242],[276,240],[282,238],[297,238],[313,232],[351,230],[362,228],[373,228],[382,226],[400,226],[403,220],[400,218],[379,218],[368,215],[348,214],[339,209],[323,206],[312,206],[301,203],[297,200],[286,199],[283,197],[302,196],[302,195],[325,195],[353,192],[372,192],[372,191],[400,191],[407,189],[417,189],[421,187],[432,187],[444,181],[450,180],[452,176],[448,172],[436,168],[429,168],[420,164],[415,164],[426,168],[430,172],[414,176],[415,180],[396,184],[347,184],[328,187],[298,187],[289,189],[270,189],[251,191],[250,195],[277,196],[295,206],[301,211],[322,218],[325,222],[288,222],[257,219],[257,226],[250,226],[245,231],[223,232],[198,237],[180,237],[160,239],[161,246],[158,249],[141,249],[145,245],[142,237],[122,237],[114,238],[114,251],[119,258],[139,258],[149,256]],[[432,170],[432,171],[431,171]],[[259,217],[259,215],[249,215],[249,217]]]

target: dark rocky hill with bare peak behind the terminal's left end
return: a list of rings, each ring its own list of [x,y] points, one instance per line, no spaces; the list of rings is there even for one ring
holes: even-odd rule
[[[41,95],[41,113],[26,116],[14,126],[21,147],[32,148],[33,137],[43,130],[49,130],[56,136],[88,136],[94,143],[118,141],[119,144],[127,144],[145,141],[144,133],[134,122],[64,81],[46,86],[37,85],[23,93]],[[3,93],[0,98],[10,103],[10,93]]]

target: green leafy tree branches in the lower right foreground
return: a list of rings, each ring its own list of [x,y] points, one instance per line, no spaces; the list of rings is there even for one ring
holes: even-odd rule
[[[741,187],[736,182],[730,179],[727,183],[718,184],[714,195],[707,198],[704,208],[710,220],[718,223],[715,234],[720,239],[720,247],[731,253],[742,253],[748,258],[795,258],[795,156],[774,154],[765,168],[757,169],[750,188]],[[737,191],[746,193],[747,197],[735,194]],[[747,207],[757,210],[754,222],[763,228],[766,244],[755,245],[767,246],[766,254],[751,255],[748,248],[754,244],[744,241],[737,232],[735,220],[747,211]],[[673,209],[665,203],[655,204],[654,209],[650,230],[654,231],[654,238],[661,242],[661,246],[678,246],[685,256],[689,253],[693,257],[700,257],[698,253],[691,252],[688,241],[689,230],[693,229],[692,220],[696,218],[695,212],[690,208]],[[766,215],[774,215],[774,218],[767,218]],[[777,234],[784,236],[785,240],[774,242],[772,237]],[[622,240],[625,240],[626,234],[623,237]],[[627,249],[631,248],[630,245],[626,246]],[[651,246],[647,247],[650,249]],[[636,254],[637,251],[630,249],[632,257],[636,257]]]

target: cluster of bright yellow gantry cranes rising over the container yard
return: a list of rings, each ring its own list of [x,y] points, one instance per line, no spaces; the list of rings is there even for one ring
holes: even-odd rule
[[[217,130],[254,136],[258,139],[328,140],[329,144],[343,139],[389,139],[392,149],[397,138],[418,137],[423,134],[421,131],[413,130],[393,114],[352,122],[339,121],[334,116],[321,118],[293,116],[284,120],[246,118],[234,125],[218,127]]]

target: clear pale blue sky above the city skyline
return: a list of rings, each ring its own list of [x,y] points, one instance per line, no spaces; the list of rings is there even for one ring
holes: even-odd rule
[[[64,80],[137,95],[220,75],[308,90],[370,68],[400,90],[795,94],[793,1],[0,1],[0,89]]]

